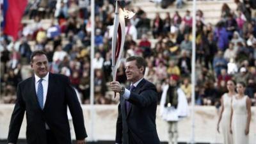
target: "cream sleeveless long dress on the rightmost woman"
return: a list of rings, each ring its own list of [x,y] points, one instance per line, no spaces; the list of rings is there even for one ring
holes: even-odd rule
[[[249,141],[249,136],[245,135],[247,122],[246,99],[247,96],[241,99],[233,97],[232,131],[234,144],[248,144]]]

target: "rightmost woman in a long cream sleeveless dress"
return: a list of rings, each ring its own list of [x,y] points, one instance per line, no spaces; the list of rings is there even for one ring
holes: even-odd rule
[[[232,99],[230,129],[233,134],[234,144],[248,144],[251,121],[251,100],[244,95],[246,86],[242,82],[237,83],[237,95]]]

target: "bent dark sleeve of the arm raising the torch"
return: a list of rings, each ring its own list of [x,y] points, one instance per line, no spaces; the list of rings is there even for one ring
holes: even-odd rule
[[[154,84],[147,84],[141,89],[140,94],[131,92],[128,101],[141,108],[157,103],[156,87]]]

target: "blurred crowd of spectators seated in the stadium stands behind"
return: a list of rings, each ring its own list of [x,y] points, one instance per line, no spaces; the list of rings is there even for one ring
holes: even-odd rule
[[[220,106],[221,95],[227,92],[230,79],[246,84],[245,93],[255,105],[256,13],[250,1],[234,2],[235,11],[223,4],[220,21],[215,26],[205,22],[202,10],[196,12],[195,97],[198,105]],[[29,1],[19,40],[13,42],[1,31],[1,102],[15,101],[17,84],[31,76],[28,68],[31,52],[43,50],[49,59],[50,72],[70,77],[83,104],[90,102],[91,67],[95,70],[95,103],[116,103],[108,88],[112,80],[111,29],[115,1],[95,1],[95,4],[95,58],[91,66],[90,1]],[[143,9],[132,8],[131,2],[127,3],[127,9],[136,15],[126,20],[123,58],[138,55],[147,60],[145,77],[156,84],[159,101],[163,86],[168,83],[166,79],[175,75],[190,102],[191,12],[166,13],[164,18],[156,13],[151,20]],[[51,22],[45,24],[45,19]],[[124,61],[118,68],[117,80],[127,84]]]

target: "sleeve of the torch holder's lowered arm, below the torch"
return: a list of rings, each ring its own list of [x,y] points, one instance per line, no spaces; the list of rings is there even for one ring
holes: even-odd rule
[[[121,112],[121,105],[118,104],[118,117],[116,120],[116,143],[122,143],[122,134],[123,134],[122,112]]]

